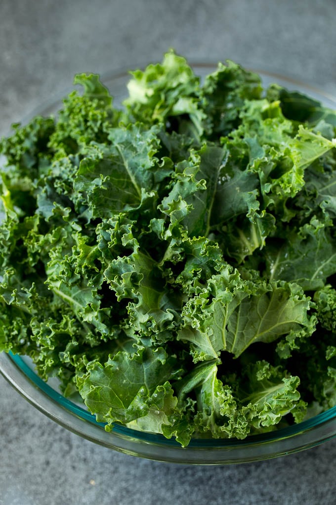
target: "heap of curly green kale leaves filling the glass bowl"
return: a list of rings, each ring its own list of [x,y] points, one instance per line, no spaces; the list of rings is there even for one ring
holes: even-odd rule
[[[0,141],[0,350],[183,446],[336,405],[336,113],[173,51],[75,84]]]

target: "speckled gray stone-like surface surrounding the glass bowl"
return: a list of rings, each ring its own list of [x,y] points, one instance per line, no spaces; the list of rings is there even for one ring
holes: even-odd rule
[[[230,58],[336,94],[336,2],[1,0],[0,133],[69,88],[76,72]],[[336,440],[286,458],[175,466],[81,439],[0,377],[1,505],[333,505]]]

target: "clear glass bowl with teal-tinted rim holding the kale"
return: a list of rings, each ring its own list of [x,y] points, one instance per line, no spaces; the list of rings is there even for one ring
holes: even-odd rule
[[[213,63],[192,65],[201,78],[213,71]],[[336,109],[336,99],[322,91],[281,75],[262,72],[265,86],[276,82],[290,90],[299,90]],[[126,72],[107,74],[102,81],[118,104],[124,98],[129,76]],[[64,93],[66,94],[66,92]],[[62,96],[64,96],[64,94]],[[47,115],[55,113],[60,100],[33,111]],[[29,118],[26,118],[27,120]],[[50,419],[70,431],[105,447],[133,456],[156,461],[194,465],[224,465],[261,461],[308,449],[336,436],[336,407],[307,421],[262,435],[252,435],[244,440],[237,439],[192,439],[187,447],[181,447],[174,439],[163,435],[137,431],[114,424],[112,432],[106,432],[104,424],[74,401],[65,398],[57,389],[57,382],[41,380],[26,357],[0,353],[0,372],[34,407]]]

